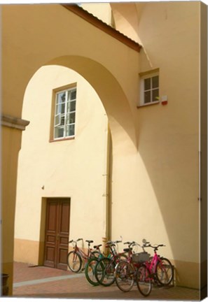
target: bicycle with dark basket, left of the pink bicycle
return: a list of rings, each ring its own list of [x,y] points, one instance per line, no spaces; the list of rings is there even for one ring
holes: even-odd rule
[[[125,261],[120,261],[116,266],[116,285],[123,292],[129,292],[130,289],[132,289],[134,282],[136,282],[139,292],[143,296],[148,296],[151,293],[152,284],[145,261],[148,260],[150,255],[144,251],[143,247],[143,252],[134,253],[132,251],[132,247],[141,247],[134,241],[132,241],[132,243],[127,242],[125,244],[128,244],[129,246],[124,249],[128,255]]]

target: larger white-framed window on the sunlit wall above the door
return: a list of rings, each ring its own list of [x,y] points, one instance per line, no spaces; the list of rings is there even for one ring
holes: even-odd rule
[[[75,136],[76,88],[65,89],[55,94],[55,115],[53,138]]]

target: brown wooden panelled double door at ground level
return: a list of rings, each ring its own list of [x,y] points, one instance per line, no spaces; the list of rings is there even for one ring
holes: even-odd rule
[[[48,199],[44,266],[67,270],[70,199]]]

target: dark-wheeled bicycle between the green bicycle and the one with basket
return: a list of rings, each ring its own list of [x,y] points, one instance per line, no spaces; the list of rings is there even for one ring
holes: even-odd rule
[[[117,252],[118,243],[121,242],[122,240],[108,241],[106,247],[109,247],[111,250],[109,257],[100,259],[95,265],[95,278],[97,279],[97,282],[104,287],[113,284],[115,281],[114,271],[116,264],[118,264],[122,257],[126,258],[125,252]]]

